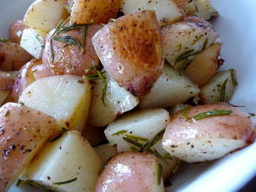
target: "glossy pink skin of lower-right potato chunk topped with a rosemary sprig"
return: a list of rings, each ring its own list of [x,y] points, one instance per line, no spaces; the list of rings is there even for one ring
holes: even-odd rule
[[[255,141],[255,122],[251,115],[225,102],[194,106],[189,108],[187,117],[192,117],[205,111],[230,110],[230,115],[211,116],[189,123],[182,116],[183,110],[173,115],[164,132],[162,143],[169,146],[189,143],[195,140],[211,140],[227,138],[241,140],[250,145]]]

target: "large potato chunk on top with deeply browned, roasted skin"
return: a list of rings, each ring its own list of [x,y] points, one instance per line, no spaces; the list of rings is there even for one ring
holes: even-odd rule
[[[92,38],[104,68],[134,96],[147,94],[162,74],[159,31],[155,13],[143,10],[119,17]]]

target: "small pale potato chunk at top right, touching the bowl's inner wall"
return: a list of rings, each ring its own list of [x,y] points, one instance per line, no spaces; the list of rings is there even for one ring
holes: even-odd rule
[[[218,12],[212,6],[209,0],[193,0],[191,3],[189,3],[188,14],[208,20],[212,17],[216,17]]]

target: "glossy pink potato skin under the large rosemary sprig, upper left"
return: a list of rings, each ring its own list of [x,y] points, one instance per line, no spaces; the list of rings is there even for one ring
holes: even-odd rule
[[[83,53],[81,54],[81,47],[77,45],[68,45],[63,47],[65,42],[57,42],[52,40],[52,49],[54,50],[54,61],[52,62],[51,57],[51,45],[50,36],[54,32],[52,30],[45,38],[45,49],[43,54],[43,68],[49,68],[49,76],[61,76],[61,75],[75,75],[83,76],[95,73],[95,70],[85,72],[86,69],[90,68],[90,65],[100,65],[99,58],[92,45],[92,36],[102,28],[102,26],[94,25],[88,26],[86,34],[86,45]],[[59,34],[57,36],[68,35],[77,38],[79,42],[83,42],[82,29],[76,29],[68,31],[67,33]]]

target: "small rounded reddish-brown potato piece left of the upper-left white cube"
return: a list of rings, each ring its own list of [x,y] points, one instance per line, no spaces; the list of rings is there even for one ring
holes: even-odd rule
[[[15,20],[9,28],[10,40],[16,44],[20,43],[23,30],[26,28],[22,20]]]

